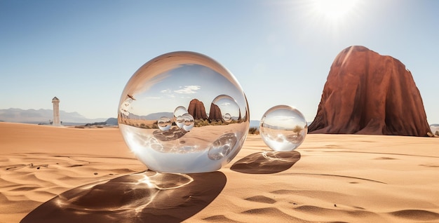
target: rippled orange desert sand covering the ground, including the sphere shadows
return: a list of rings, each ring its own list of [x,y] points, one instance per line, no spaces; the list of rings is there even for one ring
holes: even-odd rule
[[[0,123],[0,222],[439,222],[439,138],[249,135],[216,172],[146,170],[117,128]]]

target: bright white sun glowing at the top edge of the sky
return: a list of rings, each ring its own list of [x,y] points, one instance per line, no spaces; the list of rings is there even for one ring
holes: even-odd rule
[[[357,6],[358,0],[313,0],[312,4],[316,13],[326,19],[342,20]]]

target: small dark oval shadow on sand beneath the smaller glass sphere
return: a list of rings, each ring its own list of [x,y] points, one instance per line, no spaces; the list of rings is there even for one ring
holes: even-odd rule
[[[299,159],[298,151],[263,151],[241,158],[230,169],[249,174],[279,173],[291,168]]]

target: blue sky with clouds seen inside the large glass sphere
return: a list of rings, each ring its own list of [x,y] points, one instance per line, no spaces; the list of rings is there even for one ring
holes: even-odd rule
[[[189,102],[194,98],[202,102],[209,102],[204,103],[208,112],[210,102],[218,96],[215,92],[227,92],[227,95],[231,97],[241,94],[227,78],[202,65],[180,65],[175,69],[155,76],[148,84],[151,83],[154,83],[154,85],[149,86],[149,89],[144,89],[143,93],[136,95],[137,102],[135,103],[137,106],[133,107],[133,113],[141,114],[145,110],[161,112],[165,108],[167,111],[173,111],[175,109],[174,105],[179,103],[187,108]],[[220,88],[227,88],[227,90]],[[151,103],[156,104],[156,106],[150,107],[149,104]],[[241,103],[243,103],[242,99]]]

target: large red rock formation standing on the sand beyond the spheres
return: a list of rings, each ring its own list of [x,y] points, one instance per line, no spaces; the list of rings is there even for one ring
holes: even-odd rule
[[[364,46],[351,46],[332,63],[308,131],[426,136],[431,130],[405,65]]]

